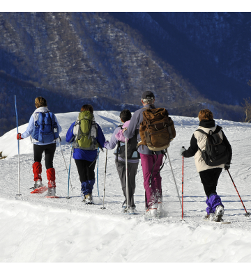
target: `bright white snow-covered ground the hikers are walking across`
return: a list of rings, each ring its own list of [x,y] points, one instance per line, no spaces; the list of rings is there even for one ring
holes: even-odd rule
[[[77,112],[59,113],[63,128],[63,155],[70,162],[70,145],[66,132],[77,118]],[[95,111],[98,124],[106,136],[120,124],[119,112]],[[169,157],[181,194],[181,146],[188,148],[192,132],[199,120],[172,116],[176,138],[169,147]],[[216,120],[231,143],[233,159],[230,173],[248,211],[251,208],[250,136],[251,125]],[[24,132],[27,125],[19,127]],[[238,198],[226,171],[222,172],[218,194],[225,205],[225,221],[218,224],[202,221],[206,196],[196,172],[194,159],[185,159],[184,212],[178,201],[174,178],[167,161],[162,169],[162,191],[167,214],[161,219],[144,215],[144,187],[139,164],[135,203],[137,214],[122,214],[124,201],[113,150],[108,151],[105,187],[105,210],[102,207],[105,180],[105,152],[98,162],[98,188],[93,189],[95,205],[84,205],[74,160],[70,178],[73,191],[68,200],[68,175],[59,146],[54,157],[56,194],[61,198],[45,198],[30,194],[33,186],[33,146],[30,139],[21,141],[20,194],[17,188],[17,129],[0,137],[0,262],[251,262],[251,218]],[[43,181],[46,182],[44,160]],[[250,211],[251,212],[251,211]],[[213,268],[215,272],[215,267]],[[84,272],[84,266],[82,267]],[[158,271],[157,271],[158,272]],[[205,270],[201,270],[204,274]],[[206,272],[207,273],[207,272]]]

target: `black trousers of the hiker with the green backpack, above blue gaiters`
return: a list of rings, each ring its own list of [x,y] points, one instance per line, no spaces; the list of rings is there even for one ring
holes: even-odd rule
[[[79,173],[79,180],[80,182],[86,182],[86,180],[95,180],[95,165],[96,161],[89,162],[88,160],[85,159],[75,159],[75,163],[77,166],[77,171]],[[91,165],[91,167],[89,167]]]

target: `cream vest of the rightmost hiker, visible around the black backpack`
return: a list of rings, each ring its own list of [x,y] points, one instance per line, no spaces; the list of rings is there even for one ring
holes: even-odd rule
[[[204,127],[199,126],[198,129],[201,129],[204,132],[209,133],[210,130],[215,131],[216,127],[204,128]],[[201,149],[201,150],[197,150],[197,152],[195,154],[195,166],[196,166],[197,172],[199,173],[199,172],[204,171],[204,170],[208,170],[208,169],[212,169],[212,168],[218,168],[218,167],[219,168],[224,168],[224,164],[220,164],[219,166],[208,166],[206,164],[204,159],[202,159],[202,157],[201,157],[201,151],[204,150],[205,147],[206,147],[206,135],[202,134],[201,132],[198,132],[198,131],[195,131],[194,135],[195,135],[195,139],[197,139],[198,147]],[[221,130],[219,132],[219,135],[220,135],[220,139],[223,140]]]

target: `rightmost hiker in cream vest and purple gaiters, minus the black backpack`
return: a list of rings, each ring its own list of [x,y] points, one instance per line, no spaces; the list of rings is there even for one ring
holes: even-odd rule
[[[213,120],[213,113],[208,109],[204,109],[199,111],[199,127],[202,131],[207,134],[212,131],[214,132],[216,129],[215,120]],[[229,159],[225,164],[220,164],[218,166],[208,166],[204,159],[202,158],[201,151],[206,147],[206,134],[203,134],[198,131],[198,129],[192,135],[190,141],[190,147],[188,150],[185,148],[181,148],[181,156],[183,157],[193,157],[195,156],[195,166],[199,176],[201,178],[201,182],[204,187],[206,198],[206,204],[208,207],[206,208],[206,215],[204,219],[209,219],[211,221],[223,221],[222,216],[224,214],[224,205],[222,204],[220,196],[218,196],[216,192],[216,187],[218,184],[218,179],[220,177],[220,173],[222,173],[222,168],[229,169],[230,162],[232,157],[232,150],[227,137],[225,136],[222,128],[218,126],[220,131],[218,132],[220,139],[225,143],[227,147]]]

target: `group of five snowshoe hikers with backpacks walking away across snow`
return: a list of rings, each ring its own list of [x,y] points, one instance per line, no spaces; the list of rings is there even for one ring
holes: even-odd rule
[[[70,125],[66,141],[73,143],[73,159],[79,173],[81,194],[84,202],[93,204],[92,190],[95,184],[95,166],[98,148],[114,151],[116,169],[119,173],[123,195],[126,198],[124,212],[135,212],[135,177],[141,159],[146,214],[156,217],[164,211],[162,206],[163,157],[176,136],[174,123],[164,108],[155,108],[155,96],[151,91],[142,93],[143,108],[132,113],[124,109],[120,113],[121,125],[116,127],[109,141],[93,116],[93,107],[84,104],[77,120]],[[43,97],[36,97],[36,110],[33,112],[26,131],[17,134],[17,139],[31,136],[33,143],[34,188],[43,187],[41,159],[45,152],[47,169],[47,196],[56,196],[55,170],[53,168],[56,139],[61,126],[54,113],[47,108]],[[215,126],[213,113],[208,109],[199,111],[199,127],[192,135],[188,150],[181,148],[182,157],[195,156],[197,172],[206,194],[206,214],[204,219],[222,221],[224,205],[216,192],[222,169],[229,169],[231,146],[220,126]]]

